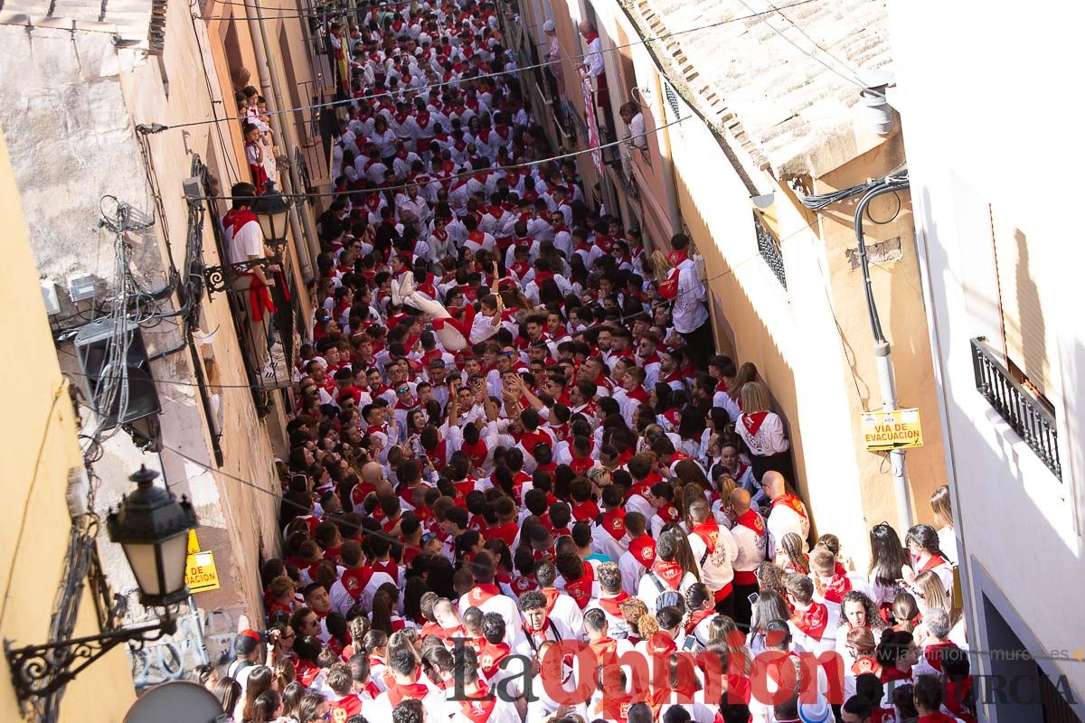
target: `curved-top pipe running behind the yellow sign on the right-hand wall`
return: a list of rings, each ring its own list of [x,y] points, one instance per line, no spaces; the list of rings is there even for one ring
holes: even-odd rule
[[[870,315],[870,331],[875,340],[875,361],[878,364],[878,386],[882,393],[882,411],[895,412],[896,404],[896,382],[893,377],[893,361],[890,359],[890,346],[882,333],[881,319],[878,315],[878,306],[875,304],[873,284],[870,281],[870,262],[867,258],[867,245],[863,238],[863,215],[867,211],[867,206],[878,196],[886,193],[894,193],[907,189],[907,179],[888,180],[881,185],[877,185],[859,199],[855,208],[855,242],[859,250],[859,260],[863,264],[863,284],[867,298],[867,312]],[[911,512],[911,502],[908,496],[908,470],[904,466],[904,450],[894,449],[890,451],[890,463],[893,467],[893,495],[896,498],[897,520],[903,531],[907,531],[915,525],[915,515]]]

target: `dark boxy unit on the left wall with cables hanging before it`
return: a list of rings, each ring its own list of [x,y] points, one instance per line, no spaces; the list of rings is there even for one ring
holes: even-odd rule
[[[120,322],[127,325],[125,333],[131,338],[128,353],[124,360],[108,361],[110,343],[116,336],[116,323],[108,317],[98,319],[79,330],[75,337],[75,353],[82,375],[84,395],[106,428],[142,419],[157,414],[162,409],[139,324],[133,321]],[[128,404],[124,415],[119,414],[119,392],[113,396],[112,402],[106,399],[110,382],[124,382],[127,387]]]

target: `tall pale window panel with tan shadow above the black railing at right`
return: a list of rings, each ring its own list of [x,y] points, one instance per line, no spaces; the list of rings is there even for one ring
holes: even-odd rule
[[[1011,371],[1031,383],[1041,396],[1051,378],[1048,349],[1056,348],[1055,330],[1045,323],[1037,279],[1038,262],[1030,256],[1030,240],[1023,231],[991,209],[991,235],[998,273],[998,305],[1003,344]]]

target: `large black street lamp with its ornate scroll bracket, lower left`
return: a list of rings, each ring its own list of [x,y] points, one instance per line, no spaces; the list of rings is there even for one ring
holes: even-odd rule
[[[129,479],[137,483],[131,494],[120,500],[117,509],[110,511],[106,530],[110,540],[119,543],[139,585],[140,603],[148,607],[165,607],[158,620],[123,628],[112,606],[99,608],[102,632],[98,635],[53,640],[42,645],[12,647],[4,641],[4,654],[11,668],[12,683],[20,701],[46,698],[63,688],[87,666],[122,643],[136,648],[177,632],[177,621],[169,606],[184,599],[184,568],[189,530],[199,522],[192,504],[184,498],[178,502],[174,493],[154,486],[158,473],[140,467]],[[87,577],[95,592],[107,597],[104,576],[99,568],[98,553],[91,544]],[[81,581],[80,581],[81,582]],[[74,593],[81,594],[79,591]],[[66,601],[61,601],[61,605]]]

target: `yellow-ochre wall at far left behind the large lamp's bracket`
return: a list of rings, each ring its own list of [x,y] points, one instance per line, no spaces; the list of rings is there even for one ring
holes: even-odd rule
[[[72,525],[68,469],[82,460],[2,133],[0,219],[5,251],[0,333],[18,345],[17,354],[0,354],[0,375],[9,380],[0,401],[0,480],[9,503],[0,526],[0,638],[18,647],[48,638]],[[97,632],[93,603],[85,593],[74,634]],[[15,721],[20,711],[7,658],[0,664],[0,719]],[[128,659],[124,648],[115,648],[67,686],[60,720],[119,721],[135,698]]]

